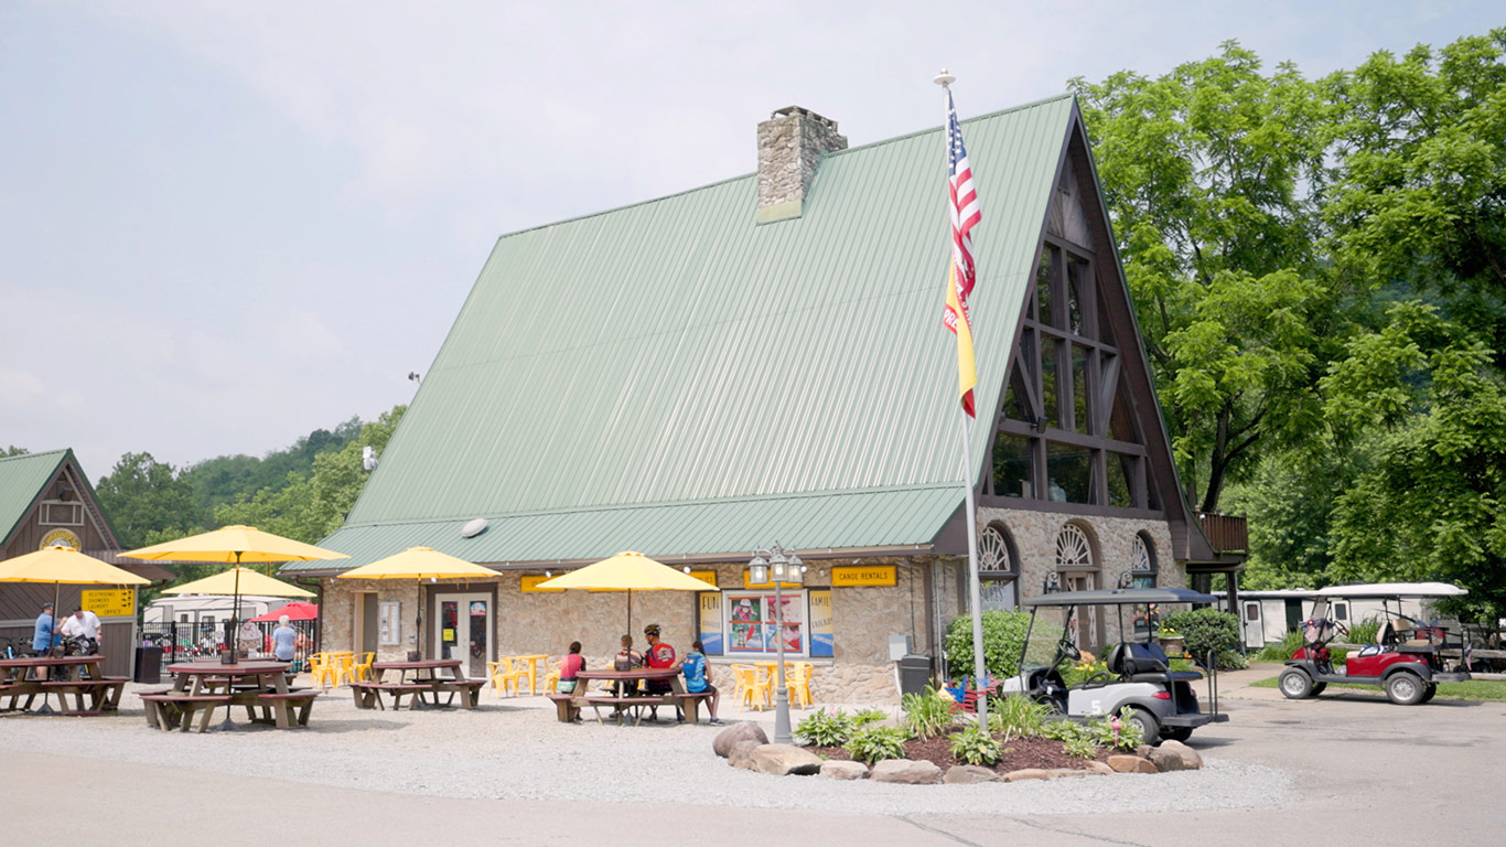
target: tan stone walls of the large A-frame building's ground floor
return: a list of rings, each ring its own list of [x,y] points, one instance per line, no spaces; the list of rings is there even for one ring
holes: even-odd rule
[[[1152,541],[1160,573],[1157,585],[1181,586],[1185,574],[1173,562],[1170,532],[1164,521],[1149,518],[1104,518],[1077,517],[1030,509],[979,509],[979,527],[989,523],[1003,524],[1014,538],[1020,553],[1021,595],[1041,594],[1047,573],[1054,570],[1056,535],[1068,521],[1087,532],[1093,547],[1093,562],[1098,565],[1098,586],[1114,586],[1122,573],[1130,568],[1130,547],[1136,534],[1146,534]],[[849,564],[884,564],[896,567],[895,586],[834,588],[831,589],[831,615],[834,633],[834,656],[812,659],[816,666],[812,680],[812,695],[816,702],[892,702],[898,699],[895,665],[889,660],[889,636],[907,634],[917,651],[935,654],[946,624],[967,609],[967,561],[965,558],[904,556],[866,559],[813,559],[809,561],[806,586],[830,588],[831,567]],[[745,562],[717,565],[694,565],[696,570],[715,570],[717,585],[723,589],[741,589]],[[461,582],[441,580],[425,585],[426,595],[434,591],[491,591],[495,588],[495,654],[515,656],[529,653],[548,654],[545,668],[554,668],[571,641],[584,645],[586,662],[592,668],[610,663],[617,651],[617,642],[626,631],[626,597],[620,592],[523,592],[524,574],[535,571],[503,571],[495,580]],[[931,589],[928,591],[928,577]],[[357,592],[375,591],[380,601],[401,603],[401,647],[380,648],[381,659],[399,659],[417,647],[414,636],[414,609],[419,586],[404,580],[346,580],[324,579],[322,650],[354,650],[352,615],[358,603]],[[425,618],[434,613],[432,600]],[[929,615],[929,616],[928,616]],[[664,639],[684,653],[696,634],[697,597],[678,591],[648,591],[633,594],[633,639],[642,648],[643,625],[657,622]],[[428,625],[428,624],[426,624]],[[426,648],[428,651],[428,648]],[[724,696],[732,696],[732,674],[726,668],[733,660],[712,657],[712,677]],[[541,669],[541,675],[545,671]]]

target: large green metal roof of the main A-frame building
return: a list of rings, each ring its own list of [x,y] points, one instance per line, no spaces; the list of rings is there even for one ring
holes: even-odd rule
[[[980,410],[1003,387],[1072,109],[964,122]],[[660,555],[929,543],[962,502],[944,179],[935,128],[825,155],[798,219],[756,225],[747,175],[500,238],[324,544],[354,555],[383,527],[380,555],[429,543],[505,562],[630,538]],[[983,414],[979,460],[988,431]],[[398,529],[474,517],[497,535],[479,556]]]

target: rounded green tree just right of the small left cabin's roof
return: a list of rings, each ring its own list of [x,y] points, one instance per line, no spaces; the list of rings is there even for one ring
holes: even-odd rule
[[[95,493],[128,550],[149,544],[154,534],[166,541],[202,529],[193,491],[152,454],[122,455]]]

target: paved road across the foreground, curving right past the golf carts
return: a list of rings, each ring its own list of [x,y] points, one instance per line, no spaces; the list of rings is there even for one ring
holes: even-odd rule
[[[706,808],[696,797],[666,803],[562,803],[465,800],[307,785],[268,778],[90,761],[5,749],[0,763],[20,790],[0,820],[0,844],[41,844],[87,820],[89,841],[163,844],[191,833],[217,844],[633,844],[626,815],[652,815],[666,830],[703,826],[712,844],[768,844],[800,833],[804,844],[955,845],[1164,845],[1274,847],[1321,839],[1369,847],[1506,842],[1500,800],[1506,761],[1506,704],[1435,701],[1395,707],[1383,696],[1345,693],[1289,702],[1264,689],[1238,690],[1226,702],[1233,719],[1194,735],[1208,757],[1265,764],[1297,781],[1301,799],[1283,806],[1187,814],[1098,815],[843,815],[809,811]],[[32,720],[32,719],[27,719]],[[646,769],[645,779],[652,779]],[[74,788],[69,788],[74,787]],[[798,781],[791,781],[798,791]],[[944,787],[917,788],[944,791]],[[1251,799],[1259,802],[1259,799]],[[87,803],[90,814],[78,815]],[[247,815],[252,811],[252,815]],[[261,818],[262,826],[229,821]],[[215,836],[214,833],[220,833]],[[443,835],[441,835],[443,833]],[[645,839],[648,841],[648,839]]]

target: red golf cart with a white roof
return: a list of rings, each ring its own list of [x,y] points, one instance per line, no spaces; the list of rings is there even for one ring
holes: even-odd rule
[[[1383,687],[1386,696],[1398,705],[1428,702],[1438,692],[1438,683],[1462,683],[1470,674],[1458,666],[1450,671],[1444,665],[1441,651],[1447,630],[1402,615],[1401,601],[1464,594],[1465,589],[1444,582],[1334,585],[1319,589],[1313,616],[1303,622],[1303,647],[1286,660],[1286,669],[1282,671],[1282,693],[1289,699],[1306,699],[1322,693],[1328,683],[1346,683]],[[1334,668],[1328,653],[1328,644],[1334,638],[1349,634],[1343,624],[1328,615],[1337,598],[1381,601],[1381,628],[1375,633],[1375,644],[1351,654],[1343,668]]]

